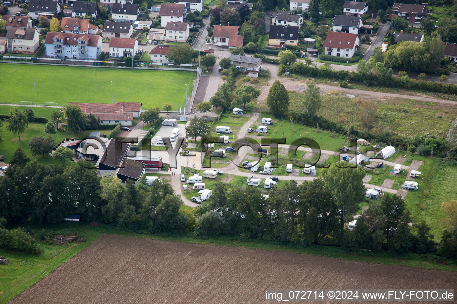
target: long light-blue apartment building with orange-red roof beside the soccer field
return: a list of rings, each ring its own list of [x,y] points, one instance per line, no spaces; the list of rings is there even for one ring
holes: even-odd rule
[[[69,59],[98,59],[102,51],[99,35],[48,32],[44,41],[46,56]]]

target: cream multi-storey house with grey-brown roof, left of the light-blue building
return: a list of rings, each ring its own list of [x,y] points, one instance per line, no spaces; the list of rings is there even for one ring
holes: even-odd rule
[[[16,27],[6,33],[8,53],[33,54],[40,47],[36,28]]]

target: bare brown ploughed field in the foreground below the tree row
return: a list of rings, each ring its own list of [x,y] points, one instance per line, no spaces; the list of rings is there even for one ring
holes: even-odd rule
[[[457,275],[292,252],[105,235],[10,303],[265,303],[265,289],[273,288],[457,289]]]

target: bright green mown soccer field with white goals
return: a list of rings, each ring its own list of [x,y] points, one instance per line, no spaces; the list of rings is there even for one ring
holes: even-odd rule
[[[143,103],[143,108],[173,104],[173,110],[184,107],[192,93],[195,72],[118,69],[100,67],[59,67],[26,64],[0,64],[3,75],[0,103],[32,101],[37,103],[68,102],[111,103],[113,101]]]

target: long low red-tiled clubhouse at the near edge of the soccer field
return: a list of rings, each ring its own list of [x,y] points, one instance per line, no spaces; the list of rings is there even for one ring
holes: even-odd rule
[[[111,103],[72,103],[81,108],[81,111],[87,115],[90,113],[132,113],[133,118],[141,115],[141,103],[117,102]],[[117,122],[119,123],[119,122]]]

